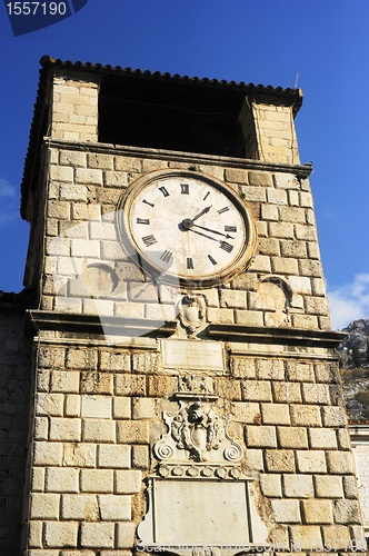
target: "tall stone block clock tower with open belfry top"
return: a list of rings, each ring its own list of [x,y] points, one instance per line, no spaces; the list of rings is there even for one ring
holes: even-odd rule
[[[24,554],[365,550],[302,92],[41,66]]]

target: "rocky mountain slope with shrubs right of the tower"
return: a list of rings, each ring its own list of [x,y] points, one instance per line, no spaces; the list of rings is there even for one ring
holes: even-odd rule
[[[348,417],[366,421],[369,419],[369,318],[353,320],[342,331],[349,334],[338,348]]]

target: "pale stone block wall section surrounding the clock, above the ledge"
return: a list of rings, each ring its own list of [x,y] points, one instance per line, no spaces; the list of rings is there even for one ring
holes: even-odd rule
[[[86,149],[86,145],[82,148],[80,143],[53,141],[49,147],[40,308],[172,320],[178,290],[162,287],[159,304],[154,285],[142,284],[150,278],[142,277],[121,249],[116,207],[124,188],[142,173],[188,169],[193,156],[89,145]],[[279,167],[279,171],[271,172],[262,165],[238,159],[227,166],[221,157],[196,156],[196,162],[245,198],[259,238],[258,254],[248,274],[230,285],[201,291],[208,319],[329,329],[309,181],[292,169]],[[100,270],[93,272],[106,276],[108,282],[118,281],[119,287],[109,290],[107,282],[106,289],[99,289],[100,284],[93,290],[91,265],[100,265]]]

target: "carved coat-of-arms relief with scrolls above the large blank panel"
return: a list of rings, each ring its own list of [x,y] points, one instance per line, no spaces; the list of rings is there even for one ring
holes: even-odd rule
[[[241,446],[227,433],[229,416],[215,409],[218,396],[212,393],[212,380],[201,375],[182,375],[178,379],[176,397],[180,408],[163,413],[169,433],[154,445],[154,454],[162,461],[237,463]]]

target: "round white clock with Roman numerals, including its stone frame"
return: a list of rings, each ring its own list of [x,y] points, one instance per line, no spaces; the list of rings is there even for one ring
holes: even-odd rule
[[[119,202],[122,247],[164,280],[211,286],[245,268],[255,228],[247,205],[226,183],[184,170],[151,172]]]

